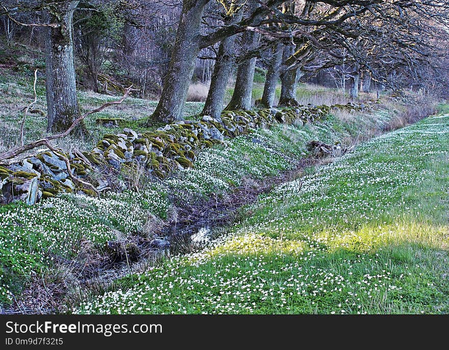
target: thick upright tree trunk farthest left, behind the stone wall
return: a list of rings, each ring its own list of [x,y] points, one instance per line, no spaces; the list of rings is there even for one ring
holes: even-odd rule
[[[59,14],[45,14],[49,22],[60,24],[58,28],[47,28],[45,37],[47,131],[64,131],[80,116],[72,40],[73,11],[78,3],[64,2],[58,8]]]

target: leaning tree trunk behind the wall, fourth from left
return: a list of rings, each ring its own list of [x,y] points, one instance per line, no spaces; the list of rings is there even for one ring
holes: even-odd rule
[[[259,35],[254,32],[245,32],[242,38],[242,47],[251,50],[259,41]],[[234,93],[226,110],[250,110],[253,97],[254,70],[257,57],[253,57],[240,64],[237,70]]]

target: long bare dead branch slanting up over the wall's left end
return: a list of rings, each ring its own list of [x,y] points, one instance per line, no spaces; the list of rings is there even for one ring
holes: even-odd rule
[[[123,95],[119,100],[111,101],[111,102],[106,102],[106,103],[103,104],[102,106],[99,106],[98,108],[96,108],[96,109],[94,109],[94,110],[92,110],[92,111],[89,111],[89,112],[83,114],[82,116],[80,116],[79,118],[77,118],[77,119],[72,123],[72,125],[70,125],[69,128],[68,128],[67,130],[65,130],[64,132],[61,132],[61,133],[58,133],[58,134],[54,134],[54,135],[48,136],[48,137],[46,137],[46,138],[43,138],[43,139],[40,139],[40,140],[37,140],[37,141],[30,142],[29,144],[26,144],[26,145],[17,147],[17,148],[15,148],[15,149],[11,150],[11,151],[8,151],[8,152],[5,152],[5,153],[0,154],[0,164],[6,164],[6,165],[9,165],[9,164],[11,164],[12,162],[7,161],[7,159],[14,158],[14,157],[16,157],[16,156],[22,154],[23,152],[30,151],[30,150],[32,150],[32,149],[34,149],[34,148],[36,148],[36,147],[39,147],[39,146],[47,146],[47,144],[48,144],[50,141],[52,141],[52,140],[65,138],[66,136],[68,136],[68,134],[69,134],[71,131],[73,131],[73,129],[74,129],[74,128],[75,128],[75,127],[76,127],[76,126],[77,126],[77,125],[78,125],[84,118],[86,118],[87,116],[89,116],[89,115],[91,115],[91,114],[101,112],[101,111],[103,111],[106,107],[109,107],[109,106],[111,106],[111,105],[121,104],[121,103],[122,103],[122,102],[123,102],[123,101],[124,101],[130,94],[131,94],[131,92],[132,92],[133,90],[134,90],[134,89],[133,89],[133,86],[131,85],[128,89],[126,89],[124,95]]]

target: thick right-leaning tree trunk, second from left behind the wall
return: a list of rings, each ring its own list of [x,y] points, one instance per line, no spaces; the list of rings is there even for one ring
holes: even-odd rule
[[[153,120],[171,122],[183,117],[194,62],[200,49],[198,34],[201,18],[208,2],[184,1],[162,95],[151,117]]]

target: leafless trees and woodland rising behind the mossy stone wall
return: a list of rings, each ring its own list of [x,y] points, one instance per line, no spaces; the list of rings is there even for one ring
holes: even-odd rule
[[[208,80],[204,115],[294,106],[304,79],[348,89],[431,91],[448,83],[449,2],[405,0],[0,1],[1,33],[44,43],[48,130],[80,115],[77,87],[113,92],[133,83],[159,94],[148,125],[180,120],[192,77]],[[224,95],[235,74],[233,95]],[[276,101],[276,86],[281,94]],[[82,131],[82,130],[79,130]]]

